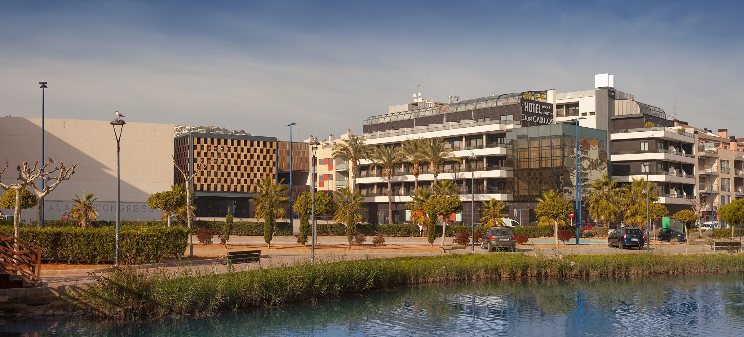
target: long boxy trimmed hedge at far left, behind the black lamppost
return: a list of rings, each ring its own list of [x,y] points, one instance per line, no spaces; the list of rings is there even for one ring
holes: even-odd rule
[[[3,227],[3,231],[13,228]],[[42,248],[42,258],[52,261],[99,263],[113,261],[115,228],[22,227],[21,238]],[[186,251],[188,231],[182,227],[126,227],[119,231],[121,263],[153,263],[180,258]]]

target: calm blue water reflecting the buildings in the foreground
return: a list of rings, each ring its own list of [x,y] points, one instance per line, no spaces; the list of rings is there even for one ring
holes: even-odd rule
[[[157,323],[0,322],[0,336],[744,336],[743,275],[408,287]]]

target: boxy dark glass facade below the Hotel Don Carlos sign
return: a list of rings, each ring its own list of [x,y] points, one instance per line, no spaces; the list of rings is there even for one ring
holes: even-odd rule
[[[570,123],[529,126],[507,132],[513,147],[514,201],[534,202],[545,190],[562,190],[567,199],[576,197],[576,158],[580,158],[581,185],[607,173],[607,132]]]

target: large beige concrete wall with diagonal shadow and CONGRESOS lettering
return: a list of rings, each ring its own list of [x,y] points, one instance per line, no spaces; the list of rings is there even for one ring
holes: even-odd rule
[[[112,114],[112,117],[113,114]],[[126,120],[126,118],[125,118]],[[121,136],[122,219],[160,218],[147,208],[147,197],[173,184],[173,124],[127,122]],[[70,167],[75,174],[45,200],[45,218],[60,219],[71,199],[83,191],[98,198],[100,219],[115,219],[116,141],[109,121],[45,120],[45,156]],[[16,165],[41,161],[41,119],[0,118],[0,161],[7,159],[2,182],[16,182]],[[7,214],[6,210],[3,210]],[[12,213],[10,213],[12,214]],[[25,210],[35,220],[38,211]]]

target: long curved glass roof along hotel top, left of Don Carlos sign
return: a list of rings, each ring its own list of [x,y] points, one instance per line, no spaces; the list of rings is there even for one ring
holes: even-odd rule
[[[440,106],[432,106],[429,108],[414,109],[402,112],[391,112],[385,115],[376,115],[372,116],[371,118],[367,118],[367,120],[365,121],[365,125],[388,123],[392,121],[403,121],[411,118],[441,115],[449,112],[461,112],[473,109],[490,108],[493,106],[507,106],[510,104],[519,103],[520,98],[547,102],[547,95],[548,92],[543,91],[519,92],[514,94],[501,94],[498,96],[494,95],[481,98],[473,98],[471,100],[461,100],[459,102],[445,103]]]

